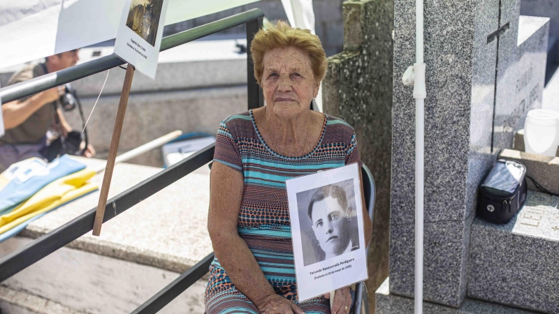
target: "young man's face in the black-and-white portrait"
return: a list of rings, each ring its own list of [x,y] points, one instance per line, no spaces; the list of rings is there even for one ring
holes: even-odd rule
[[[312,205],[312,231],[326,258],[340,255],[349,245],[347,214],[335,197]]]

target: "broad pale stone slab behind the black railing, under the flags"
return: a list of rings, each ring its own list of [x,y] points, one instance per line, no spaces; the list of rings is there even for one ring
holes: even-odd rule
[[[77,159],[88,166],[103,162]],[[160,171],[115,165],[109,197]],[[102,180],[103,173],[91,181],[100,186]],[[85,234],[2,284],[76,311],[130,313],[212,252],[206,230],[209,181],[204,166],[104,223],[101,237]],[[22,237],[0,244],[0,257],[80,216],[98,200],[99,190],[33,221]],[[161,313],[204,313],[207,283],[202,278]]]

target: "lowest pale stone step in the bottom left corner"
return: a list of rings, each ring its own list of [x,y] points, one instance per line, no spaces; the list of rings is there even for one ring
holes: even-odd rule
[[[68,308],[55,301],[28,292],[0,286],[0,313],[2,314],[90,314]]]

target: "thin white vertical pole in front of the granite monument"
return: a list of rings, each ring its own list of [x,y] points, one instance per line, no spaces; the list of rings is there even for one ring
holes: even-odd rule
[[[423,313],[423,157],[425,151],[425,63],[423,63],[423,0],[416,0],[415,131],[415,314]]]

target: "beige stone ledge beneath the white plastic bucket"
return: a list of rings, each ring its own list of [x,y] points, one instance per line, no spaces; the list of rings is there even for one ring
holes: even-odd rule
[[[499,158],[515,160],[526,166],[526,175],[535,179],[546,190],[559,194],[559,158],[504,149]],[[528,189],[538,190],[532,180],[526,179]]]

